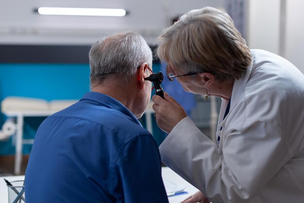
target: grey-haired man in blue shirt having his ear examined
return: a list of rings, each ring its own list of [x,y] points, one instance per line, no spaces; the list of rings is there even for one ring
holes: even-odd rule
[[[137,118],[151,97],[152,52],[116,34],[89,53],[91,92],[39,127],[25,175],[27,203],[168,203],[160,155]]]

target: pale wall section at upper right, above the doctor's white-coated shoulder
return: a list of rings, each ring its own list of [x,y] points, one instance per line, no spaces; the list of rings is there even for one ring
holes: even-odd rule
[[[249,47],[281,55],[304,73],[304,0],[249,0],[248,5]]]

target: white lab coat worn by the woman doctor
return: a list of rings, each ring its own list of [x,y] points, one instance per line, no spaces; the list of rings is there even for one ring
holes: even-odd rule
[[[278,55],[251,52],[224,120],[222,100],[219,148],[186,117],[161,144],[162,161],[212,203],[304,203],[304,75]]]

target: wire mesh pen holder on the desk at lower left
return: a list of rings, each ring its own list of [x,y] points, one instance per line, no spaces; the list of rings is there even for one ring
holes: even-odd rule
[[[25,203],[24,181],[12,181],[8,186],[8,203]]]

